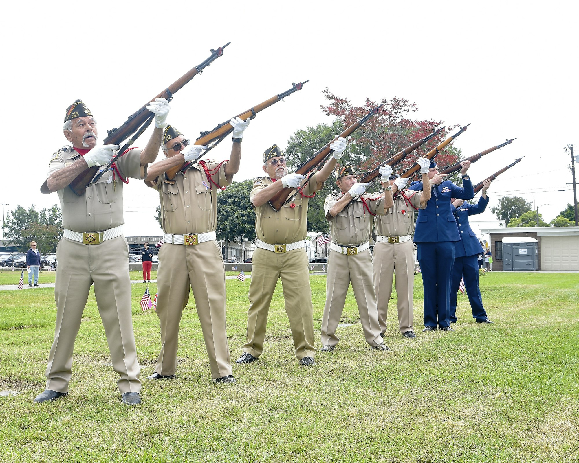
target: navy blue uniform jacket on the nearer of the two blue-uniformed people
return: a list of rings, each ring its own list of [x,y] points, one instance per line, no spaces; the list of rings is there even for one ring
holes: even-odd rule
[[[463,187],[450,180],[433,188],[433,193],[425,209],[418,211],[414,242],[460,241],[459,227],[450,207],[450,198],[472,199],[474,190],[470,179],[463,180]],[[410,190],[422,191],[422,182],[412,182]],[[436,190],[436,194],[434,193]]]

